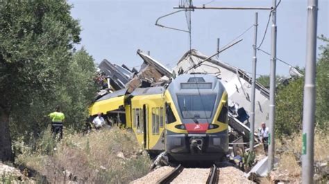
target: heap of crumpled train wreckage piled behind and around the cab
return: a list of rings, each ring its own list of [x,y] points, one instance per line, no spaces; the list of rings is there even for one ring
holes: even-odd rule
[[[106,74],[109,87],[99,92],[95,100],[97,105],[90,109],[92,116],[101,112],[110,115],[109,117],[112,117],[114,122],[124,122],[122,108],[125,94],[133,94],[140,91],[141,88],[166,86],[171,77],[183,73],[208,73],[219,78],[228,92],[230,143],[249,142],[248,113],[251,108],[251,77],[245,71],[216,59],[207,59],[208,56],[194,49],[187,51],[173,70],[141,50],[137,50],[137,54],[144,61],[140,71],[137,71],[136,68],[129,69],[125,65],[112,64],[106,59],[99,64],[101,72]],[[109,102],[111,107],[108,107]],[[269,91],[256,82],[255,127],[260,127],[261,122],[268,120],[268,107]],[[257,137],[258,135],[255,134],[256,142],[258,142]],[[233,149],[239,147],[239,144],[231,145],[233,145]],[[248,146],[248,144],[246,145]],[[244,149],[243,146],[242,149]]]

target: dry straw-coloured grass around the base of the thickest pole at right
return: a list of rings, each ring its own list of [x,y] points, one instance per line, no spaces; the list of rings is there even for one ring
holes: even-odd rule
[[[298,182],[301,180],[301,134],[294,134],[282,140],[276,140],[277,155],[279,158],[278,168],[275,172],[277,178]],[[319,163],[326,163],[328,167],[329,135],[316,131],[314,136],[314,163],[315,173],[321,175]],[[278,177],[278,175],[280,175]]]

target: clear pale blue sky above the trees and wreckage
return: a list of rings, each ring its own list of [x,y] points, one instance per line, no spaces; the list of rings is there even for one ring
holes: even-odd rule
[[[151,57],[173,68],[189,50],[188,33],[155,26],[158,17],[176,10],[180,0],[69,0],[71,16],[83,29],[81,44],[96,63],[108,59],[114,64],[138,67],[142,59],[137,50],[150,51]],[[193,1],[194,6],[262,6],[271,7],[271,0],[207,0]],[[192,12],[192,48],[213,55],[250,28],[258,12],[258,45],[264,35],[269,10],[195,10]],[[307,0],[282,0],[277,8],[277,57],[292,66],[305,66]],[[160,19],[159,24],[187,30],[185,12]],[[329,0],[319,0],[317,35],[329,37]],[[252,71],[254,28],[242,37],[242,42],[219,54],[219,59],[232,66]],[[317,45],[324,43],[318,40]],[[270,53],[271,21],[260,47]],[[317,51],[317,54],[320,50]],[[269,75],[270,56],[257,53],[257,74]],[[276,73],[288,75],[289,66],[277,62]]]

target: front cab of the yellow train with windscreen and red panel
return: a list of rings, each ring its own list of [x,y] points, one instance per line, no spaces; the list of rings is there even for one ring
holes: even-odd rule
[[[228,151],[228,95],[212,75],[178,75],[165,92],[165,150],[174,160],[220,160]]]

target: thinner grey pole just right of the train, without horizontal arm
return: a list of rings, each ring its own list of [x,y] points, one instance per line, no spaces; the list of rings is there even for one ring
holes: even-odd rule
[[[255,12],[255,27],[253,37],[253,80],[251,82],[251,108],[250,108],[250,151],[253,151],[254,145],[254,132],[255,132],[255,88],[256,88],[256,65],[257,65],[257,27],[258,27],[258,12]]]

